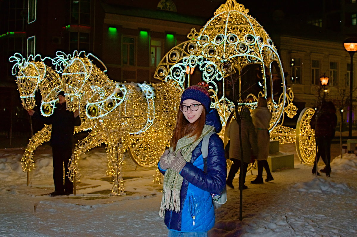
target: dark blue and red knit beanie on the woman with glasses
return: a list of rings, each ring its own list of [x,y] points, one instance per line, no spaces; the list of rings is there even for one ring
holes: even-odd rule
[[[210,111],[212,100],[210,93],[208,93],[208,84],[206,82],[199,82],[197,85],[186,88],[182,93],[180,104],[186,99],[198,101],[205,107],[206,112]]]

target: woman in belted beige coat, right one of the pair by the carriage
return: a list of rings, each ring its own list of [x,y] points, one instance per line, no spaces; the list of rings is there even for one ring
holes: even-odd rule
[[[252,112],[253,124],[257,134],[258,140],[258,176],[255,180],[251,181],[252,184],[262,184],[263,183],[263,168],[267,172],[266,182],[273,180],[271,175],[269,164],[268,164],[268,154],[269,154],[269,123],[272,117],[271,112],[267,108],[267,100],[265,97],[259,97],[258,107]]]

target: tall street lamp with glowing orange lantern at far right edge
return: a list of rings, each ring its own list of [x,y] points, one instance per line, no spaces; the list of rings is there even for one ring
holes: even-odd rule
[[[357,37],[350,37],[343,41],[343,46],[348,51],[351,57],[351,73],[350,73],[350,109],[348,117],[348,139],[352,139],[352,92],[353,92],[353,55],[357,51]]]

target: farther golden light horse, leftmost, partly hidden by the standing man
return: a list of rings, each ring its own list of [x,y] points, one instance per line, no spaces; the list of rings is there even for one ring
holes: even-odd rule
[[[63,88],[60,76],[44,63],[45,60],[52,59],[48,57],[42,59],[40,55],[30,55],[26,59],[19,53],[15,53],[14,56],[9,58],[10,62],[16,62],[12,67],[12,74],[16,75],[22,107],[26,110],[34,109],[35,92],[39,90],[42,97],[40,111],[43,116],[47,117],[53,114],[54,106],[58,101],[57,94]],[[16,73],[17,70],[19,70],[18,73]],[[80,108],[83,110],[84,106],[82,105]],[[89,124],[86,123],[84,110],[81,114],[82,124],[79,127],[75,127],[75,132],[90,128],[88,127]],[[34,169],[32,155],[38,146],[50,140],[51,127],[51,125],[45,124],[40,131],[34,134],[25,149],[25,153],[22,155],[22,170],[27,172],[27,185],[29,185],[29,171]]]

